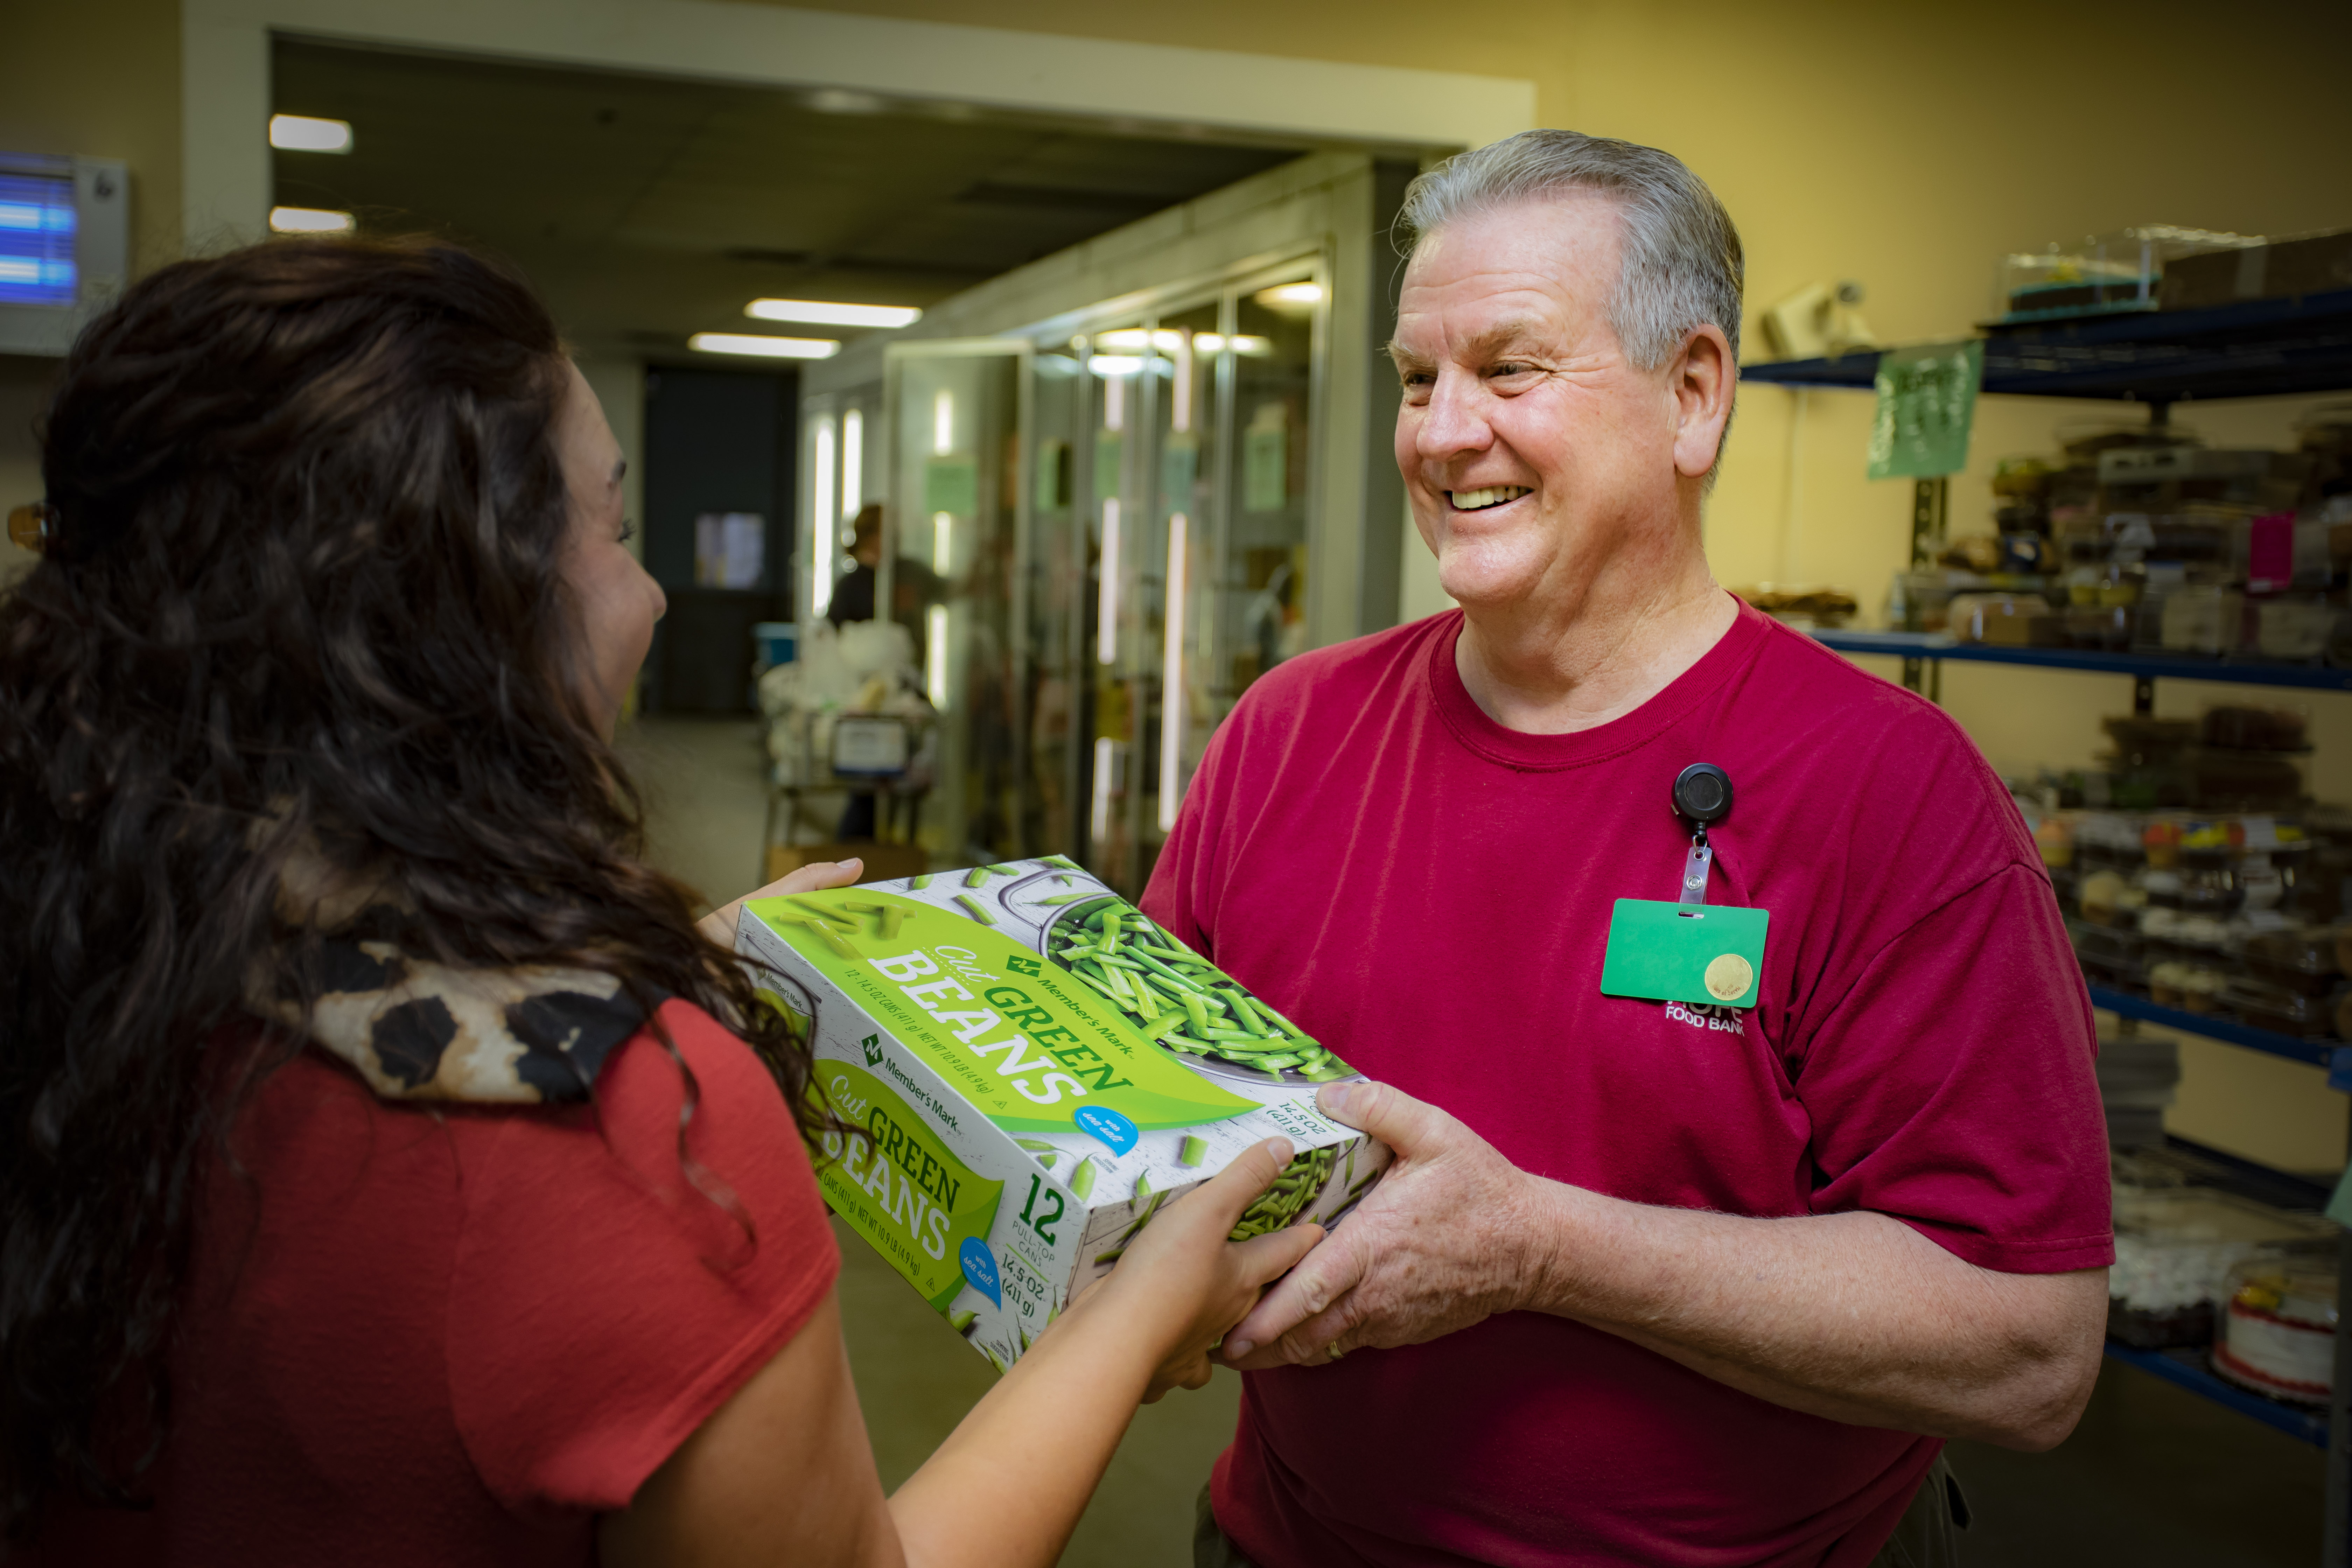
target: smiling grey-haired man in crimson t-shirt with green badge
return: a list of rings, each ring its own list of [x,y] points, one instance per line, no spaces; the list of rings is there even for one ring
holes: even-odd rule
[[[1710,578],[1740,242],[1689,169],[1529,132],[1406,219],[1397,463],[1463,609],[1261,679],[1145,896],[1397,1150],[1225,1338],[1200,1561],[1947,1561],[1943,1439],[2072,1429],[2112,1262],[2034,844],[1943,712]],[[1769,924],[1693,997],[1698,907]]]

